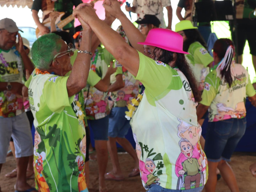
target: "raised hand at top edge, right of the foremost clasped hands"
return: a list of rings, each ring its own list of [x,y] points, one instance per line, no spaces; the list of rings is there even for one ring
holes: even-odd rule
[[[120,3],[117,0],[105,0],[103,6],[106,12],[110,13],[113,17],[119,18],[124,13],[121,10]]]

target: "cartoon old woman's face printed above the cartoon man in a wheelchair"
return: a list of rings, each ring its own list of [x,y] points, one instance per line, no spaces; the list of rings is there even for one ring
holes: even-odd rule
[[[180,122],[180,124],[177,126],[178,137],[180,137],[181,139],[189,140],[189,142],[193,146],[195,146],[198,143],[202,133],[201,126],[199,124],[198,124],[198,127],[192,126],[180,119],[178,119],[178,121]]]

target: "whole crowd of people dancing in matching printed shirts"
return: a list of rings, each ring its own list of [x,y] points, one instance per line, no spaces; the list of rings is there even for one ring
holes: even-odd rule
[[[15,21],[0,20],[0,171],[10,145],[17,168],[6,177],[17,177],[15,192],[88,192],[90,158],[98,163],[99,192],[108,192],[105,180],[125,179],[116,143],[134,160],[128,176],[140,175],[148,192],[215,192],[218,175],[239,192],[228,162],[246,130],[244,101],[256,107],[256,91],[235,62],[233,41],[218,39],[208,52],[209,35],[188,9],[180,14],[184,2],[171,30],[170,0],[127,5],[138,28],[117,0],[104,1],[103,21],[93,3],[34,0],[32,48]],[[56,25],[62,12],[65,23]],[[135,150],[125,138],[130,128]],[[256,164],[250,170],[256,177]],[[35,187],[26,182],[31,177]]]

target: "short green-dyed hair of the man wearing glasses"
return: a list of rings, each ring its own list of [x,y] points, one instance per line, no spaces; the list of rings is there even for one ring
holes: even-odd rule
[[[61,37],[54,33],[49,33],[38,38],[32,45],[31,57],[35,67],[38,69],[48,69],[54,56],[60,51]]]

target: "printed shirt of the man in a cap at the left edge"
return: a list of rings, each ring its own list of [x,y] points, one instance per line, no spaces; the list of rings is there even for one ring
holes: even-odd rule
[[[0,82],[23,83],[23,63],[16,47],[0,49]],[[22,96],[5,90],[0,92],[0,118],[24,112]]]

